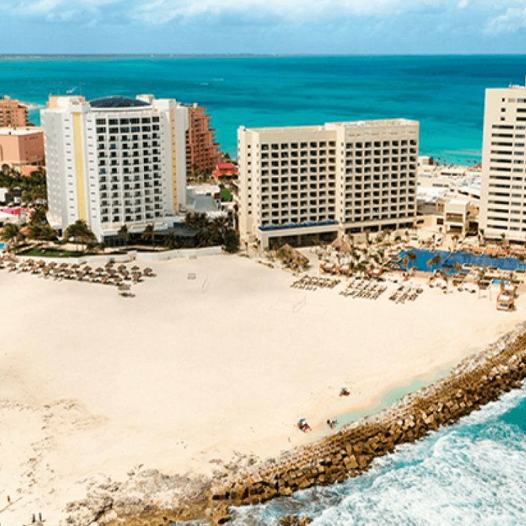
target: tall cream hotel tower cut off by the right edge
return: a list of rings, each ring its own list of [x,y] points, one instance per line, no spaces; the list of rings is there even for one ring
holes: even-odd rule
[[[487,89],[479,227],[485,237],[526,239],[526,87]]]

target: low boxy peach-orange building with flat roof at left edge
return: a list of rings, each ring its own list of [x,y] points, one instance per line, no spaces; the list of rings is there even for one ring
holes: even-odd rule
[[[29,126],[0,128],[0,165],[17,168],[44,163],[44,132]]]

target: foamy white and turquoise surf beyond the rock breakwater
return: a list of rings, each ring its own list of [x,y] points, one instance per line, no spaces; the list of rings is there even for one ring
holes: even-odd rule
[[[234,526],[515,526],[526,523],[526,384],[343,484],[233,510]]]

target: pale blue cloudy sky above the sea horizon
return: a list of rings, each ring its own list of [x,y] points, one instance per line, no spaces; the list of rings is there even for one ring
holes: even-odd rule
[[[526,0],[0,0],[0,53],[526,53]]]

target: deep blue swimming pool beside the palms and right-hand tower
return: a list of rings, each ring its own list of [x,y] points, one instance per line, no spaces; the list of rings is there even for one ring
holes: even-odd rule
[[[400,266],[402,269],[406,269],[406,266],[403,264],[403,257],[410,251],[401,251],[399,253],[400,257]],[[430,251],[423,248],[414,248],[412,250],[417,255],[415,261],[410,261],[410,268],[416,267],[419,271],[430,272],[436,269],[443,269],[446,272],[453,272],[453,264],[459,263],[461,265],[471,264],[473,266],[496,266],[498,269],[506,271],[516,271],[516,270],[525,270],[526,264],[520,262],[516,257],[489,257],[487,254],[483,255],[474,255],[465,252],[446,252],[446,251]],[[430,266],[428,264],[429,260],[434,257],[439,256],[440,262],[438,265],[433,264]]]

